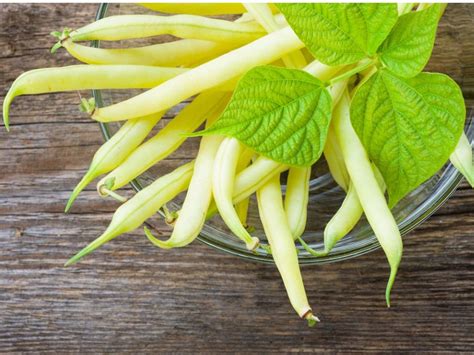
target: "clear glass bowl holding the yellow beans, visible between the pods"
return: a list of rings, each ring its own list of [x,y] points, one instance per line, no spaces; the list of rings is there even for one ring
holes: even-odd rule
[[[456,80],[463,90],[468,118],[465,130],[470,141],[474,137],[474,123],[472,118],[472,99],[474,93],[474,38],[473,26],[474,4],[450,4],[443,16],[438,36],[433,50],[433,56],[426,68],[427,71],[446,73]],[[102,4],[99,7],[97,18],[110,15],[152,13],[151,11],[132,4]],[[173,40],[172,36],[160,36],[151,39],[123,41],[118,43],[103,43],[107,47],[120,47],[125,45],[141,46],[152,43]],[[131,43],[133,42],[133,43]],[[94,45],[99,45],[97,42]],[[138,94],[140,90],[127,91],[94,91],[93,94],[99,106],[110,105]],[[186,103],[170,109],[166,116],[158,123],[156,129],[162,128]],[[101,124],[100,128],[105,139],[109,139],[120,127],[119,124]],[[135,190],[147,186],[157,176],[161,176],[178,165],[194,158],[199,145],[198,138],[188,139],[175,153],[161,161],[149,171],[134,180],[131,185]],[[446,164],[435,176],[422,186],[405,197],[393,210],[395,219],[402,235],[406,235],[435,212],[446,199],[456,190],[462,176],[451,164]],[[282,177],[284,191],[284,176]],[[323,249],[323,230],[326,223],[337,211],[344,199],[345,193],[339,188],[331,175],[324,158],[315,164],[310,184],[310,198],[308,208],[308,223],[303,239],[313,249]],[[179,209],[184,195],[178,196],[168,204],[171,209]],[[153,224],[164,223],[163,220],[152,221]],[[249,209],[249,225],[255,228],[254,235],[266,241],[257,212],[255,197],[252,197]],[[271,255],[263,249],[253,253],[245,248],[231,232],[225,227],[220,218],[214,217],[206,223],[198,238],[201,242],[226,253],[240,256],[244,259],[265,263],[273,263]],[[379,248],[379,243],[372,233],[365,218],[357,224],[354,230],[342,239],[331,253],[324,257],[314,257],[302,247],[299,248],[301,264],[318,264],[345,260],[368,253]]]

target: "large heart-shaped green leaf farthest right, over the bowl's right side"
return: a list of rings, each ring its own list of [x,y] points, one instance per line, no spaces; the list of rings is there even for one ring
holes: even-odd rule
[[[465,116],[462,92],[444,74],[401,79],[382,69],[357,90],[352,124],[383,175],[391,207],[446,163]]]

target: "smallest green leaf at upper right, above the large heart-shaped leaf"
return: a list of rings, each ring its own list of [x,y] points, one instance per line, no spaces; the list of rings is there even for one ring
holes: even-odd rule
[[[381,62],[394,74],[411,78],[428,63],[433,50],[441,5],[400,17],[390,35],[380,46]]]

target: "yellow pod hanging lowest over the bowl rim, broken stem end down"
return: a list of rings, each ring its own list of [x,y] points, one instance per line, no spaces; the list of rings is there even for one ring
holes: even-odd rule
[[[274,175],[257,190],[258,211],[273,260],[280,272],[288,298],[296,313],[308,322],[317,322],[306,297],[298,255],[287,223],[280,188],[280,175]]]

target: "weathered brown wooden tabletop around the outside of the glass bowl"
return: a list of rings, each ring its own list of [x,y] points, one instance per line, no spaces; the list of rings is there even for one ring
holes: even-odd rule
[[[90,21],[96,5],[0,4],[0,99],[48,54],[51,30]],[[474,351],[474,191],[463,184],[405,239],[384,305],[381,251],[304,268],[323,322],[292,312],[277,271],[196,243],[161,251],[128,234],[65,269],[115,204],[91,187],[63,214],[102,141],[76,94],[18,99],[0,130],[0,351]]]

